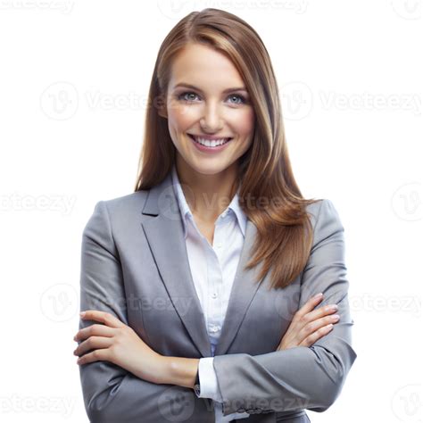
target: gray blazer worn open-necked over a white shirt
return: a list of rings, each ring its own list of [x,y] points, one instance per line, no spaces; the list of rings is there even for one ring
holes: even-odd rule
[[[251,414],[237,420],[242,423],[309,422],[304,409],[328,410],[357,357],[344,228],[328,199],[308,211],[314,228],[310,258],[284,289],[269,290],[270,273],[260,287],[253,283],[261,265],[243,270],[257,231],[247,220],[214,358],[224,415]],[[332,331],[311,347],[276,351],[295,311],[319,292],[324,294],[319,307],[339,307]],[[82,236],[80,310],[112,313],[162,355],[211,356],[170,174],[151,190],[95,204]],[[80,320],[79,329],[94,323]],[[93,423],[214,423],[211,400],[192,389],[150,383],[109,361],[81,365],[79,374]]]

